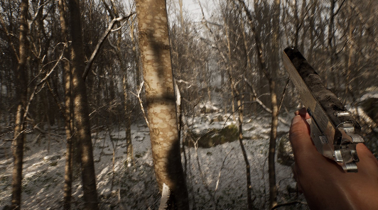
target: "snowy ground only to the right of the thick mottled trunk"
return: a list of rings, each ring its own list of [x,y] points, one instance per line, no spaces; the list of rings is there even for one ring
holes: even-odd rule
[[[213,118],[216,117],[212,116]],[[247,151],[252,177],[252,194],[257,209],[269,209],[269,174],[267,153],[269,148],[269,117],[249,119],[244,124],[244,148]],[[288,119],[289,120],[289,119]],[[225,122],[198,123],[196,129],[222,128]],[[229,121],[228,123],[235,123]],[[226,124],[227,125],[227,124]],[[280,132],[288,132],[287,126],[279,126]],[[188,185],[196,201],[196,209],[247,209],[246,167],[239,141],[217,145],[213,148],[189,148]],[[198,159],[197,159],[198,157]],[[189,158],[188,158],[189,159]],[[200,167],[199,167],[200,165]],[[276,163],[276,183],[278,184],[279,202],[300,200],[303,197],[289,193],[287,188],[294,188],[291,167]],[[299,196],[299,197],[298,197]],[[193,205],[193,204],[192,204]],[[193,206],[194,207],[194,206]],[[293,207],[293,206],[291,206]],[[305,206],[298,206],[305,207]]]

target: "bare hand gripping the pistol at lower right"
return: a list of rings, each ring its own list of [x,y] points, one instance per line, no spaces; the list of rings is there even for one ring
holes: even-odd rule
[[[290,127],[294,177],[310,209],[378,209],[378,161],[362,143],[357,144],[357,173],[346,173],[324,157],[310,137],[306,109],[296,111]]]

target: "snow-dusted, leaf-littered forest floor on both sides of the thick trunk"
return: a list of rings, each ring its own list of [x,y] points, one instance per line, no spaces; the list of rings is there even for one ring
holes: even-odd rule
[[[188,118],[189,128],[193,132],[202,132],[237,124],[228,116],[201,114]],[[290,122],[291,117],[286,117],[286,121]],[[215,118],[221,120],[213,121]],[[267,209],[270,117],[247,118],[243,130],[244,146],[251,165],[254,206]],[[279,126],[279,135],[287,132],[288,126]],[[65,133],[58,128],[50,133],[54,134],[40,138],[37,138],[39,133],[28,134],[23,163],[23,209],[63,209]],[[134,123],[131,133],[135,165],[125,163],[123,128],[92,133],[100,209],[158,209],[160,195],[153,172],[148,128],[145,123]],[[0,209],[11,201],[13,157],[9,148],[4,151],[6,154],[0,155]],[[246,169],[239,141],[211,148],[185,147],[185,154],[190,209],[247,209]],[[183,164],[185,157],[183,155]],[[74,168],[72,209],[81,209],[79,164],[76,163]],[[279,203],[304,201],[301,195],[293,192],[295,181],[291,167],[276,163],[276,181]],[[303,204],[291,206],[292,209],[297,207],[306,208]]]

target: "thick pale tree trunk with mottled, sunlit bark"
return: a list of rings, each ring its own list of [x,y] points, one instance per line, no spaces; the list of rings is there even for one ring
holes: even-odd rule
[[[175,109],[166,1],[136,1],[139,50],[146,82],[150,137],[158,187],[171,189],[177,209],[189,209]]]

